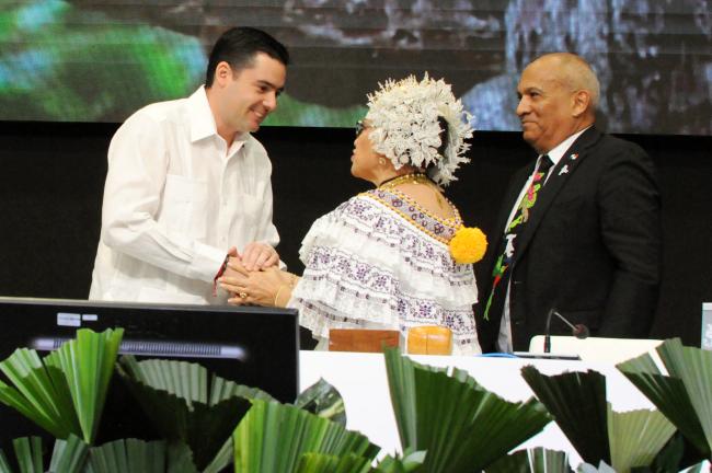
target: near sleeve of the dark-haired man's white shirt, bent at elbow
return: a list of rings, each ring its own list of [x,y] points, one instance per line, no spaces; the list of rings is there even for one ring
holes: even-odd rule
[[[118,129],[108,149],[102,241],[171,273],[213,281],[226,250],[171,232],[157,222],[168,165],[165,136],[154,119],[137,114]]]

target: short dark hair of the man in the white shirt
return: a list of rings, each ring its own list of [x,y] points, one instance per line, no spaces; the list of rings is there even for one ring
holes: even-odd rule
[[[264,53],[285,66],[289,65],[287,48],[261,30],[242,26],[222,33],[210,51],[205,86],[213,85],[215,69],[221,61],[227,61],[232,70],[239,71],[251,67],[257,53]]]

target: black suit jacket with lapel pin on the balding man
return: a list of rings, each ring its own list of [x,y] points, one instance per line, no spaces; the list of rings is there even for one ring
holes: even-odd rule
[[[532,172],[533,163],[513,177],[491,252]],[[531,337],[544,333],[551,308],[588,326],[592,336],[647,336],[657,305],[661,239],[653,162],[636,145],[589,128],[550,172],[517,236],[509,293],[514,349],[527,350]],[[485,301],[492,278],[480,284]],[[483,305],[475,310],[480,344],[493,351],[502,314],[484,321]],[[555,319],[551,333],[571,330]]]

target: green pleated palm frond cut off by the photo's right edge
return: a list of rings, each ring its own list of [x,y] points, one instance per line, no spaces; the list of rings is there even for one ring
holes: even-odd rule
[[[669,376],[648,354],[618,369],[680,430],[704,457],[712,454],[712,353],[666,341],[657,353]]]

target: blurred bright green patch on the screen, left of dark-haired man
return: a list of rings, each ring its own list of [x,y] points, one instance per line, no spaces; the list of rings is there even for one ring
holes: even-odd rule
[[[14,2],[0,13],[3,119],[114,122],[200,83],[197,38],[122,24],[59,0]]]

